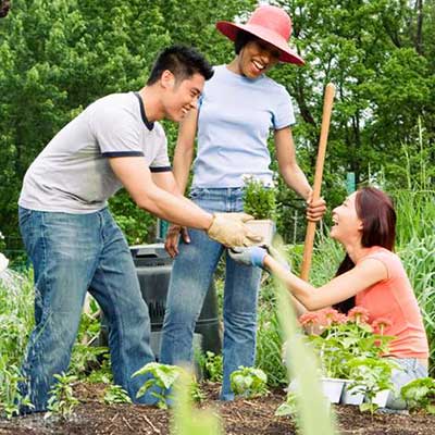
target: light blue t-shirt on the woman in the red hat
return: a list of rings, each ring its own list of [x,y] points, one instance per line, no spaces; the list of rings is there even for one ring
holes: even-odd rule
[[[244,175],[272,182],[268,137],[295,123],[284,86],[262,75],[252,80],[214,69],[199,105],[194,187],[241,187]]]

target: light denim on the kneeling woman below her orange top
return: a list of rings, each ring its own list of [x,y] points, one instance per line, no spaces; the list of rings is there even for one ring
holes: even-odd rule
[[[406,401],[400,397],[401,387],[411,381],[426,377],[427,368],[415,358],[391,358],[391,361],[396,362],[400,369],[393,370],[391,381],[395,391],[389,393],[386,407],[401,410],[407,408]]]

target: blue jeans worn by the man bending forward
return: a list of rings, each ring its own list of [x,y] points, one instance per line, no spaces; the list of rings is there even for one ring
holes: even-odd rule
[[[35,327],[21,385],[34,411],[46,409],[53,375],[67,371],[88,289],[108,319],[114,383],[133,400],[149,402],[148,396],[136,399],[145,377],[130,377],[154,361],[148,308],[127,243],[109,211],[69,214],[20,208],[20,228],[35,271]]]

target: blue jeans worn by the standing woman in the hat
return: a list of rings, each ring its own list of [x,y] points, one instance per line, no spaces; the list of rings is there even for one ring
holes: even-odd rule
[[[243,211],[240,188],[194,188],[190,198],[210,212]],[[179,244],[166,299],[161,362],[191,362],[195,325],[219,259],[225,252],[224,377],[221,399],[233,400],[229,375],[239,365],[252,366],[256,357],[257,299],[261,269],[236,263],[225,248],[202,231],[189,229],[190,244]]]

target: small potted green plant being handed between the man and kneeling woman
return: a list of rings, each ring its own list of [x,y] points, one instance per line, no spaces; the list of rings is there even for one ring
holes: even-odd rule
[[[261,245],[270,246],[276,229],[276,187],[250,175],[245,175],[244,182],[244,211],[253,216],[247,225],[263,237]]]

